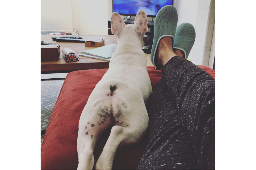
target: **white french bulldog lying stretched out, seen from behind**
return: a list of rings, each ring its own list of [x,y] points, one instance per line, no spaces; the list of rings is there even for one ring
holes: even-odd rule
[[[117,49],[80,117],[77,169],[93,168],[95,144],[109,126],[113,125],[96,169],[112,169],[118,148],[137,144],[144,138],[148,129],[145,105],[152,94],[147,60],[142,51],[147,23],[143,10],[137,13],[134,24],[128,25],[118,13],[112,14],[111,30],[118,38]]]

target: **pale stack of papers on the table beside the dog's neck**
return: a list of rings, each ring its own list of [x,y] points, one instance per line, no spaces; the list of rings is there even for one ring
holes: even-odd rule
[[[113,53],[116,51],[116,44],[109,44],[107,46],[102,46],[94,49],[88,49],[85,51],[81,51],[82,54],[79,54],[79,56],[104,60],[104,61],[110,61]]]

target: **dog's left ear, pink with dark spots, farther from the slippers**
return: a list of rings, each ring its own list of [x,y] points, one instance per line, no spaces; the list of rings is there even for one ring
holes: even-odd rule
[[[113,12],[112,17],[111,17],[111,32],[112,32],[112,34],[115,34],[118,37],[120,34],[120,31],[122,31],[124,26],[125,26],[125,23],[124,23],[122,17],[117,12]]]

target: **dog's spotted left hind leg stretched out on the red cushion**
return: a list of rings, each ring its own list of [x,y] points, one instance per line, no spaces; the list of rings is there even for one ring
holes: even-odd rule
[[[92,104],[86,105],[81,114],[79,121],[79,130],[77,137],[77,153],[78,167],[77,169],[92,169],[94,165],[93,151],[96,142],[101,137],[101,134],[111,124],[108,108],[95,104],[94,108],[90,109]],[[109,116],[109,117],[108,117]]]

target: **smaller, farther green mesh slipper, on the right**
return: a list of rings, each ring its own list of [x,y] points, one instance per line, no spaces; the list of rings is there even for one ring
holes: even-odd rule
[[[182,23],[176,29],[174,49],[180,49],[184,52],[184,59],[187,60],[190,50],[196,39],[196,31],[192,24]]]

